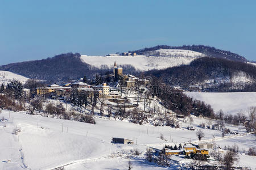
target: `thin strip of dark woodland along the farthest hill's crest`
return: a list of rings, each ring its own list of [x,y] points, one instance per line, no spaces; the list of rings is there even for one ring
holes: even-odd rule
[[[168,45],[157,45],[151,48],[143,48],[139,50],[134,50],[134,51],[129,51],[130,53],[137,53],[140,55],[147,55],[151,51],[154,50],[159,50],[159,49],[183,49],[183,50],[192,50],[195,52],[203,53],[205,56],[208,57],[215,57],[215,58],[224,58],[224,59],[229,59],[232,61],[241,61],[241,62],[246,62],[247,59],[243,56],[240,56],[238,54],[226,51],[226,50],[221,50],[221,49],[216,49],[211,46],[205,46],[205,45],[183,45],[183,46],[168,46]]]

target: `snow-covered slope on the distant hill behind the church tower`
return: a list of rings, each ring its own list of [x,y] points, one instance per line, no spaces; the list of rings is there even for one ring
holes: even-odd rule
[[[156,50],[154,56],[81,56],[82,61],[100,67],[107,65],[113,67],[114,61],[118,65],[132,65],[137,70],[165,69],[179,65],[187,65],[204,54],[190,50]],[[158,57],[156,57],[158,56]]]

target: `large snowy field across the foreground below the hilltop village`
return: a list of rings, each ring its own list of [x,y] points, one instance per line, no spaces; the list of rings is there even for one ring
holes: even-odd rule
[[[0,122],[0,169],[52,169],[61,166],[65,169],[127,169],[127,155],[135,148],[143,153],[148,146],[162,148],[166,143],[198,142],[196,131],[138,125],[107,118],[96,118],[96,125],[93,125],[23,112],[2,111],[0,116],[6,119]],[[199,129],[196,126],[201,122],[205,119],[194,117],[192,126]],[[181,127],[187,125],[181,123]],[[212,141],[214,135],[216,143],[221,146],[231,146],[241,140],[241,148],[255,146],[255,137],[246,134],[245,129],[228,128],[238,131],[239,135],[221,138],[221,131],[202,129],[204,140]],[[18,135],[13,134],[14,129],[20,129]],[[159,138],[160,133],[164,140]],[[113,145],[110,142],[112,137],[133,139],[135,145]],[[255,157],[241,155],[240,158],[240,164],[256,168],[253,162],[248,162]],[[131,159],[131,162],[133,169],[167,169],[148,163],[143,156]]]

